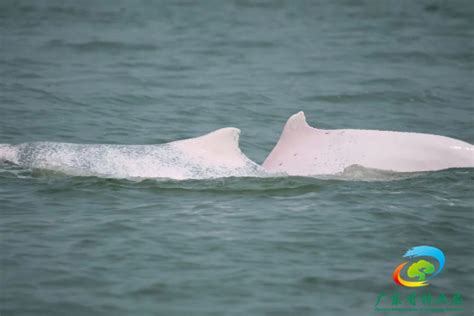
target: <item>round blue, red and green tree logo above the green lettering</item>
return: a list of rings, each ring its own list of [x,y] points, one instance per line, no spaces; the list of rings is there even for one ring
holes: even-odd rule
[[[444,253],[435,247],[413,247],[409,249],[403,257],[409,258],[410,260],[396,267],[392,275],[393,281],[398,285],[407,287],[427,286],[429,284],[428,281],[440,274],[444,268]],[[407,266],[408,263],[411,264]],[[408,268],[404,269],[405,266]],[[411,280],[402,278],[402,273],[406,274]]]

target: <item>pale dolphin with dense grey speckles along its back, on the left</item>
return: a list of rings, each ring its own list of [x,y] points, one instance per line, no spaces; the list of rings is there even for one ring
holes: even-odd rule
[[[263,169],[239,148],[240,130],[223,128],[160,145],[0,144],[0,161],[80,176],[204,179],[256,176]]]

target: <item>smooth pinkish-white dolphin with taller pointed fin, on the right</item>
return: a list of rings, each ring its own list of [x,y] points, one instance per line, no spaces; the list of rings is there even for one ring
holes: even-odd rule
[[[268,172],[294,176],[339,174],[353,165],[394,172],[474,167],[474,146],[421,133],[317,129],[299,112],[263,163]]]

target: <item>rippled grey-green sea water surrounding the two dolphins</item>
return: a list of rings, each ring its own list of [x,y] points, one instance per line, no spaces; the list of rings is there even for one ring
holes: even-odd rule
[[[2,1],[0,143],[154,144],[235,126],[261,163],[299,110],[316,127],[473,143],[473,12]],[[384,315],[378,295],[415,292],[461,293],[472,315],[473,179],[137,182],[2,164],[0,314]],[[445,269],[402,288],[392,272],[417,245],[442,249]]]

